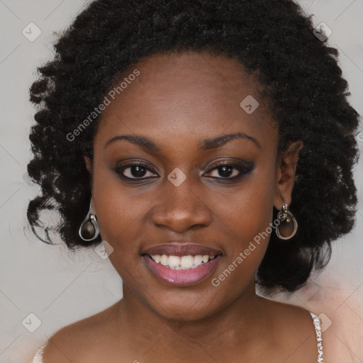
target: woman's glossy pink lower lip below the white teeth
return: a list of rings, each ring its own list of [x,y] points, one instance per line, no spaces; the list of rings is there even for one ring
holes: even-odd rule
[[[194,269],[169,269],[168,267],[162,266],[162,264],[157,264],[150,256],[144,256],[147,267],[157,277],[162,279],[162,281],[173,286],[191,286],[198,284],[217,267],[220,258],[221,256],[218,255],[211,261],[202,263]]]

